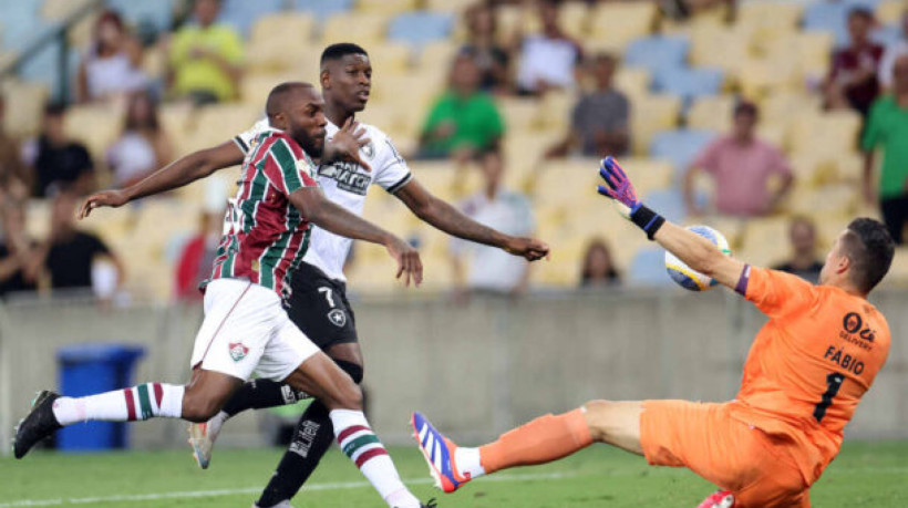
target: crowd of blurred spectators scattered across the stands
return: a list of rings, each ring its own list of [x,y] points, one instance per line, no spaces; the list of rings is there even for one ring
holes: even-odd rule
[[[633,101],[615,87],[621,65],[619,55],[589,52],[584,41],[572,39],[561,27],[559,2],[536,2],[537,33],[516,33],[503,42],[497,33],[497,2],[477,2],[464,12],[466,41],[450,66],[447,90],[424,112],[419,145],[413,158],[475,160],[485,185],[467,197],[462,209],[471,217],[515,235],[534,230],[532,203],[519,189],[504,187],[501,145],[508,126],[499,111],[503,96],[543,97],[553,90],[579,90],[579,99],[565,112],[569,115],[564,136],[545,151],[545,157],[599,157],[630,152],[634,133],[630,115]],[[723,7],[724,1],[664,1],[669,15],[685,17],[692,11]],[[120,135],[106,149],[103,160],[93,160],[89,149],[63,129],[66,108],[49,103],[40,134],[16,139],[0,132],[0,293],[33,289],[107,288],[122,281],[123,263],[99,238],[81,232],[72,219],[79,196],[97,188],[97,168],[110,172],[116,187],[145,178],[175,157],[173,141],[158,120],[162,101],[186,101],[194,106],[237,99],[244,79],[244,39],[230,25],[218,23],[218,0],[194,2],[188,21],[169,34],[164,80],[152,80],[142,66],[143,45],[115,11],[96,21],[92,42],[81,58],[74,80],[78,103],[110,103],[123,106]],[[853,108],[865,118],[861,147],[866,153],[866,199],[878,196],[881,215],[897,241],[904,241],[908,222],[908,11],[902,15],[901,39],[887,48],[874,42],[874,13],[856,8],[848,14],[847,45],[829,55],[829,73],[815,86],[828,110]],[[0,118],[3,103],[0,100]],[[756,134],[761,112],[741,99],[733,112],[731,131],[699,153],[683,180],[688,211],[706,211],[732,217],[773,214],[793,184],[790,162],[780,147]],[[2,125],[2,122],[0,122]],[[381,127],[381,125],[379,125]],[[874,153],[884,159],[878,193],[870,188]],[[706,204],[694,196],[698,174],[715,183],[715,195]],[[770,182],[778,178],[781,186]],[[52,199],[51,234],[35,241],[24,234],[24,201]],[[190,296],[195,281],[205,272],[206,247],[216,236],[217,215],[200,219],[199,236],[184,248],[186,259],[177,262],[177,292]],[[792,258],[780,268],[816,280],[816,231],[806,218],[791,226]],[[472,256],[470,273],[463,273],[464,256]],[[465,287],[478,291],[519,293],[527,287],[527,267],[494,249],[452,243],[455,273]],[[109,270],[97,269],[97,260],[109,260]],[[103,263],[102,263],[103,265]],[[93,267],[95,267],[93,269]],[[578,267],[584,287],[620,283],[609,245],[590,240]],[[94,278],[92,273],[94,272]],[[43,282],[42,282],[43,281]],[[105,282],[106,281],[106,282]]]

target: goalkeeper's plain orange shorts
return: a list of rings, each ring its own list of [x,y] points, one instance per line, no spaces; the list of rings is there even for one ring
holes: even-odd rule
[[[729,404],[644,401],[640,444],[654,466],[687,467],[735,497],[735,508],[809,507],[786,444],[734,419]]]

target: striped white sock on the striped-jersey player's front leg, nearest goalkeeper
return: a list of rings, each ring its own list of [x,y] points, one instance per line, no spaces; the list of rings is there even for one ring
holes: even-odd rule
[[[328,414],[341,450],[379,491],[389,506],[419,508],[420,500],[401,481],[394,463],[361,411],[334,409]]]

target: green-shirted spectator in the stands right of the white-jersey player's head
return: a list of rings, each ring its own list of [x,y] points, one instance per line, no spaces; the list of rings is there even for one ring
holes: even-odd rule
[[[454,59],[450,87],[435,101],[420,138],[420,156],[465,160],[494,149],[504,122],[492,95],[479,91],[479,69],[466,54]]]

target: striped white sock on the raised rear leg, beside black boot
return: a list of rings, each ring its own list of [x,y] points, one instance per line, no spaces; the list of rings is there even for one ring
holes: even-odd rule
[[[79,398],[60,397],[53,403],[53,415],[60,425],[90,419],[134,422],[155,416],[179,418],[185,391],[183,386],[146,383]]]

